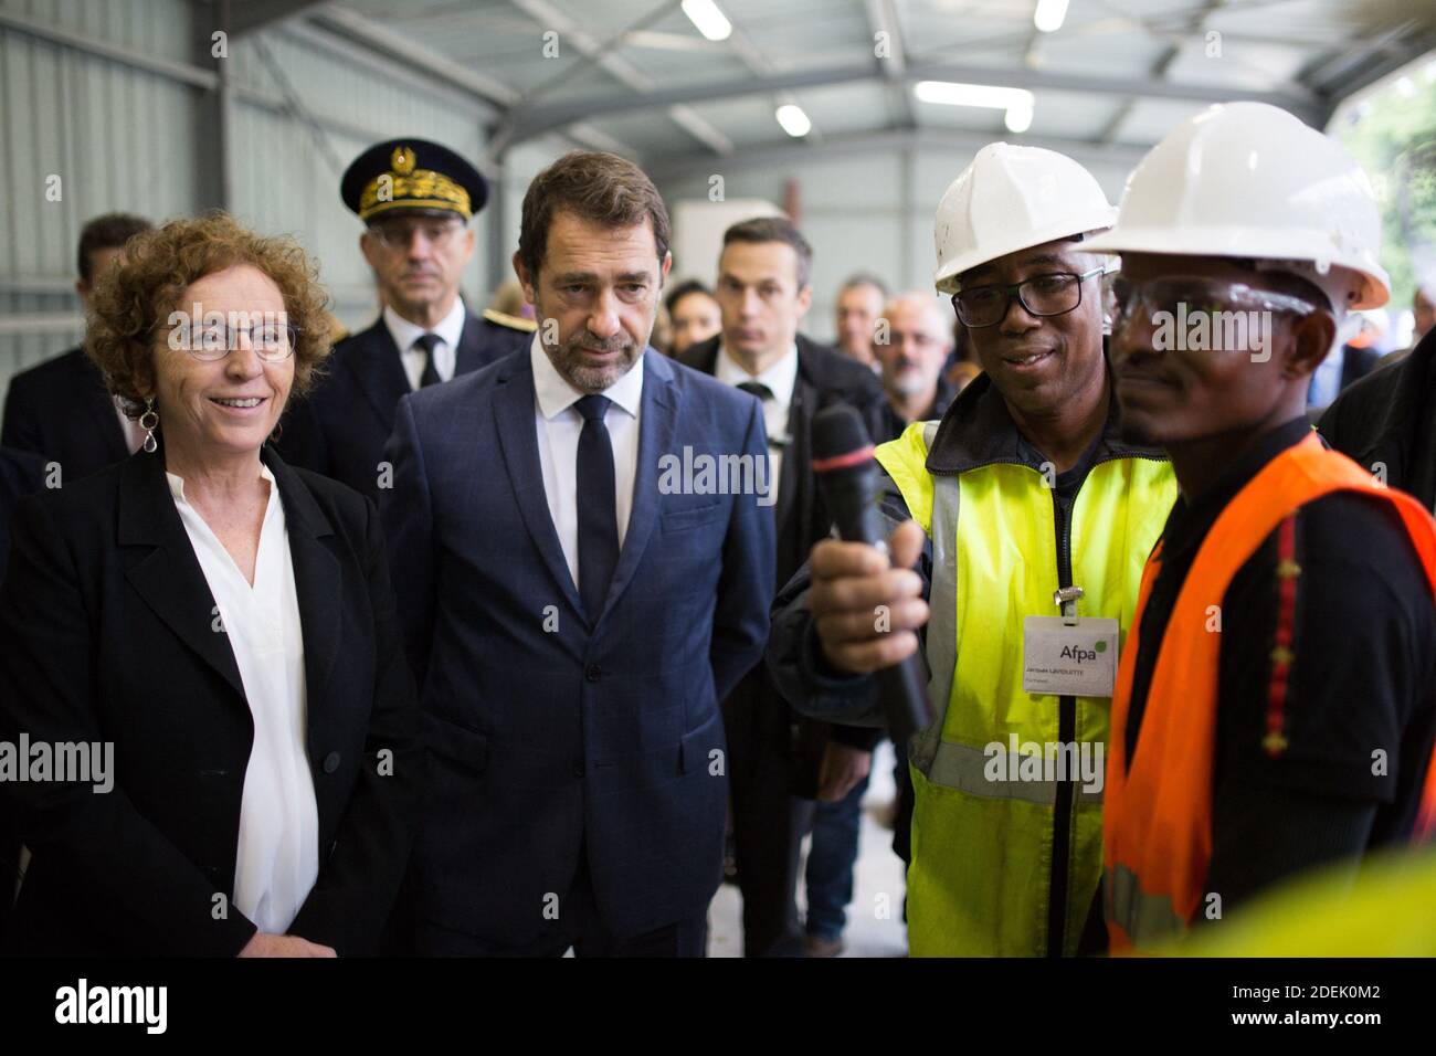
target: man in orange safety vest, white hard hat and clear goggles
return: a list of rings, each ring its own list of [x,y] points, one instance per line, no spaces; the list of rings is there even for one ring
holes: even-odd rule
[[[1361,170],[1261,103],[1175,129],[1090,244],[1122,254],[1123,428],[1180,487],[1113,698],[1114,953],[1430,828],[1436,524],[1304,417],[1344,313],[1389,296],[1379,244]]]

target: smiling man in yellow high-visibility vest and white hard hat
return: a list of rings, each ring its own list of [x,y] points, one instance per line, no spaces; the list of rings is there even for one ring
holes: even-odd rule
[[[1116,655],[1176,499],[1165,457],[1117,438],[1103,261],[1083,250],[1114,217],[1070,158],[978,152],[938,207],[936,286],[984,374],[877,448],[890,563],[824,540],[774,603],[768,664],[811,715],[880,723],[872,672],[925,651],[913,955],[1101,948]]]

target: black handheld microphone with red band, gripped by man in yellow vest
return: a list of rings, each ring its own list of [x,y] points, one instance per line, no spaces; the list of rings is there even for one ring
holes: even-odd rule
[[[813,417],[813,474],[839,537],[886,552],[873,444],[862,417],[852,407],[834,404]],[[932,721],[922,659],[913,654],[876,674],[887,730],[893,743],[906,744]]]

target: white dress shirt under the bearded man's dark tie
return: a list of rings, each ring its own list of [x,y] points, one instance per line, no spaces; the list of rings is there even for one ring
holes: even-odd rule
[[[543,351],[538,335],[528,346],[534,371],[534,428],[538,431],[538,464],[549,516],[559,533],[563,557],[569,562],[573,585],[579,585],[579,434],[583,415],[574,404],[587,392],[573,388],[554,369]],[[638,417],[643,408],[643,356],[600,395],[613,401],[603,415],[613,445],[613,511],[619,522],[619,549],[628,534],[633,511],[633,478],[638,476]]]

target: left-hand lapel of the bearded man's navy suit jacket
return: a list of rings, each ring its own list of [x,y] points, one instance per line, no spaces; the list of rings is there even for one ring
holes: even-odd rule
[[[549,497],[538,466],[538,435],[534,427],[534,375],[528,356],[514,356],[505,376],[494,388],[494,425],[504,453],[508,483],[518,500],[524,527],[543,556],[549,575],[569,599],[574,612],[583,612],[579,588],[569,575],[569,563],[559,543],[559,532],[549,514]],[[596,622],[596,621],[590,621]]]

